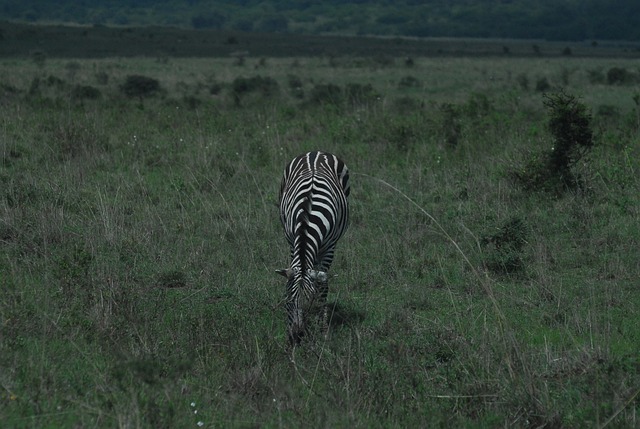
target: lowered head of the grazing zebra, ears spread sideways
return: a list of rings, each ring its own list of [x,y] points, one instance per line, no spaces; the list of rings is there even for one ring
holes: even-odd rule
[[[289,341],[297,345],[306,331],[306,313],[317,298],[318,283],[327,282],[327,273],[308,270],[302,272],[298,268],[276,270],[287,278],[287,297],[285,307],[288,318]]]

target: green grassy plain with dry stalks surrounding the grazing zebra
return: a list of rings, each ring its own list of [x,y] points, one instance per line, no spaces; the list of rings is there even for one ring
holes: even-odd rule
[[[36,55],[0,77],[2,427],[640,424],[639,60]],[[559,87],[594,145],[576,186],[524,189]],[[350,167],[352,219],[329,336],[292,353],[277,191],[312,149]]]

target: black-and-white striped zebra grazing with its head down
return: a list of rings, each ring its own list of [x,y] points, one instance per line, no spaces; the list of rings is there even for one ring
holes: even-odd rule
[[[327,271],[349,218],[349,170],[335,155],[309,152],[293,159],[280,186],[280,220],[291,246],[291,266],[277,270],[287,278],[288,335],[299,344],[305,315],[322,307],[327,327]]]

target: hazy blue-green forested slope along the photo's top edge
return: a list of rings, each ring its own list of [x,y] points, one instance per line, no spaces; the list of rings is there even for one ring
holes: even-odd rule
[[[638,0],[9,0],[0,18],[303,34],[640,40]]]

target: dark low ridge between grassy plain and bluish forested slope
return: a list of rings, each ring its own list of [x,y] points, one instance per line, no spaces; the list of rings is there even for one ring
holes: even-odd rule
[[[402,38],[194,30],[168,26],[26,24],[0,21],[0,58],[105,58],[146,56],[368,57],[384,66],[413,57],[637,58],[640,42],[525,39]]]

